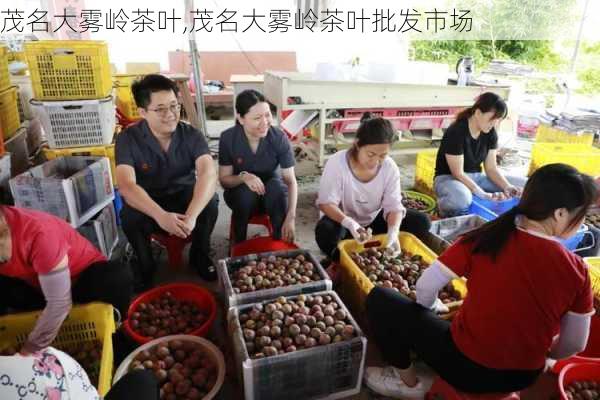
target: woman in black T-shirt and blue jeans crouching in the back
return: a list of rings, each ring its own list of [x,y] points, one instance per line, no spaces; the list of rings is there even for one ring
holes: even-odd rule
[[[496,164],[495,126],[507,107],[497,94],[487,92],[466,108],[446,129],[435,163],[434,190],[443,217],[466,214],[473,195],[486,200],[519,196],[525,179],[505,177]],[[481,172],[481,165],[485,174]]]

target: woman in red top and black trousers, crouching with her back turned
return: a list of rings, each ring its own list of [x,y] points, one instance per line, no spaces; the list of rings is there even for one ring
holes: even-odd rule
[[[367,386],[381,394],[423,398],[409,351],[467,393],[508,393],[532,385],[546,359],[585,348],[593,295],[587,267],[557,240],[572,236],[598,189],[564,164],[537,170],[519,205],[463,236],[417,281],[414,303],[375,288],[367,315],[385,368],[367,368]],[[438,291],[466,277],[468,296],[450,323],[432,311]],[[558,335],[557,335],[558,334]]]

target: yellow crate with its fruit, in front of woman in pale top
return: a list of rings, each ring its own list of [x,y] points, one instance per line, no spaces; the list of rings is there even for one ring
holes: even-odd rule
[[[408,232],[400,232],[402,254],[393,257],[385,250],[386,235],[377,235],[361,245],[354,240],[342,241],[340,249],[340,282],[338,292],[351,309],[364,314],[367,295],[375,286],[387,287],[416,299],[416,282],[437,255]],[[467,289],[462,279],[453,280],[439,297],[451,313],[460,306]]]

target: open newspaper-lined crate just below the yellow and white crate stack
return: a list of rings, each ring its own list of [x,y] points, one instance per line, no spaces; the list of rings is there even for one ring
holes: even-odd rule
[[[77,228],[114,198],[106,157],[61,157],[10,180],[18,207],[56,215]]]

